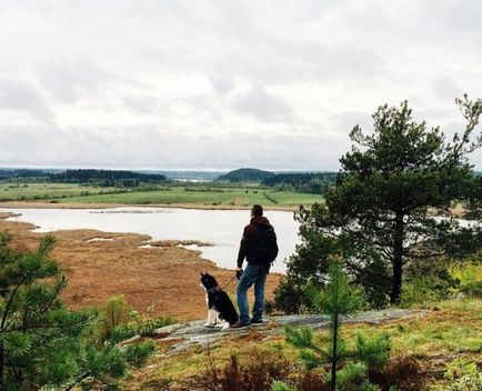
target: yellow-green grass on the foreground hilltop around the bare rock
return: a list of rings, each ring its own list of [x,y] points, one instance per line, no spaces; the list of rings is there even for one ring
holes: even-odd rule
[[[423,384],[440,381],[448,363],[454,359],[476,362],[482,369],[482,301],[451,300],[439,303],[440,309],[425,317],[413,317],[383,324],[347,324],[342,335],[350,348],[355,334],[374,337],[388,333],[392,341],[392,360],[382,372],[372,373],[380,384],[395,381],[400,390],[424,390]],[[328,332],[320,333],[327,338]],[[158,354],[137,370],[123,385],[125,390],[192,390],[189,384],[210,368],[229,365],[235,355],[240,365],[250,365],[254,351],[263,357],[278,357],[291,363],[290,378],[304,375],[298,351],[283,335],[265,335],[257,330],[238,339],[229,339],[212,348],[193,347],[177,354],[163,354],[168,347],[160,345]],[[308,380],[307,380],[308,381]],[[319,383],[319,379],[315,381]],[[308,388],[308,385],[307,385]]]

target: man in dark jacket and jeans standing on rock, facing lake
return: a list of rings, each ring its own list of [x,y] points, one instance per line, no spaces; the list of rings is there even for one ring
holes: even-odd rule
[[[240,318],[231,328],[243,328],[251,323],[263,322],[264,310],[264,283],[270,272],[271,263],[278,255],[277,234],[269,220],[263,217],[263,208],[251,208],[251,221],[244,228],[243,237],[238,254],[237,289],[238,308]],[[247,259],[248,267],[242,270],[242,263]],[[252,318],[249,317],[248,289],[254,284],[254,305]]]

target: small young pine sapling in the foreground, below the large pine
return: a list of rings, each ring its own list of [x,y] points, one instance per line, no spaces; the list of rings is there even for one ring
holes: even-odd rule
[[[383,367],[390,357],[390,341],[386,335],[365,339],[357,337],[357,348],[350,351],[340,338],[340,317],[348,315],[361,308],[363,297],[359,289],[351,287],[350,278],[343,271],[340,257],[330,262],[329,283],[327,288],[312,298],[315,307],[331,317],[330,338],[325,347],[315,339],[312,329],[287,327],[288,342],[301,349],[300,357],[308,369],[330,365],[330,389],[344,390],[354,380],[361,382],[362,389],[376,388],[365,380],[369,367]],[[339,370],[342,367],[341,370]]]

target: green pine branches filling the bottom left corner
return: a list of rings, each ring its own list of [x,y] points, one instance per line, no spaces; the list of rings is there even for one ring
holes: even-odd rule
[[[12,250],[9,240],[0,233],[0,391],[112,388],[129,361],[152,351],[142,344],[121,350],[99,339],[97,311],[66,308],[60,293],[67,280],[49,258],[52,235],[23,252]]]

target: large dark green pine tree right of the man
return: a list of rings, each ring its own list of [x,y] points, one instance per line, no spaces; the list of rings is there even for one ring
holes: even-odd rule
[[[340,159],[342,169],[324,194],[325,204],[298,213],[302,243],[288,263],[279,308],[295,307],[293,294],[285,292],[300,292],[307,281],[321,287],[333,253],[343,253],[370,301],[383,307],[400,302],[405,272],[426,264],[433,269],[446,257],[463,259],[480,248],[481,227],[463,227],[451,207],[461,202],[472,218],[481,215],[482,180],[468,156],[482,148],[482,133],[475,133],[482,100],[464,96],[456,103],[466,126],[452,140],[414,121],[406,101],[380,107],[373,132],[353,128],[352,150]],[[429,209],[445,219],[434,219]]]

